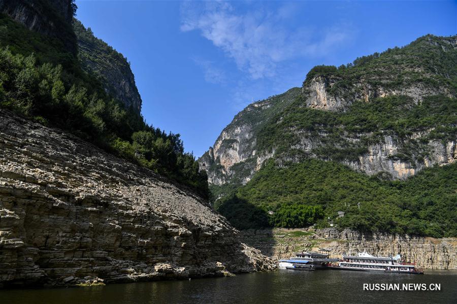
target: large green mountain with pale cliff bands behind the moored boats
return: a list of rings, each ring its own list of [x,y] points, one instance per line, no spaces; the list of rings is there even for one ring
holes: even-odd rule
[[[455,236],[456,97],[457,36],[424,36],[314,67],[301,89],[235,116],[200,166],[239,228],[330,217],[340,228]]]

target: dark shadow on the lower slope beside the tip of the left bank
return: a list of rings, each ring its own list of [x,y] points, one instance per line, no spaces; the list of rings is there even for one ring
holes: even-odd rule
[[[243,243],[262,251],[265,255],[272,256],[276,242],[265,210],[237,195],[225,199],[216,206],[216,209],[241,231]]]

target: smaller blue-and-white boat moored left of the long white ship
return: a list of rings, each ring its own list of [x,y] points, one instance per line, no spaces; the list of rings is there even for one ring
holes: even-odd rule
[[[332,263],[339,261],[339,259],[329,258],[329,254],[318,252],[298,252],[294,255],[289,259],[279,260],[279,268],[295,270],[329,268]]]

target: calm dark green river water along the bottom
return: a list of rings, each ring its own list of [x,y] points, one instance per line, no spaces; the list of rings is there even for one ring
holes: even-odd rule
[[[441,284],[441,291],[364,291],[363,283]],[[456,303],[457,272],[399,275],[348,271],[0,291],[1,303]]]

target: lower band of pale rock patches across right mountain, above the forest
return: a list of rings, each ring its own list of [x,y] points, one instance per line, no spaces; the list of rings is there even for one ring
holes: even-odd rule
[[[247,128],[237,128],[233,132],[223,131],[222,140],[216,141],[215,147],[210,148],[200,159],[200,167],[208,170],[208,181],[214,185],[223,185],[231,182],[234,177],[240,177],[241,183],[246,184],[257,172],[265,160],[275,156],[273,151],[260,151],[252,148],[252,144],[244,146],[246,139],[255,143],[252,133]],[[311,132],[298,131],[297,135],[300,142],[294,145],[293,149],[298,149],[307,153],[308,156],[319,158],[313,153],[314,149],[322,147],[327,139],[325,133],[319,137],[314,137]],[[361,138],[366,134],[357,137],[348,137],[350,143],[361,142]],[[426,138],[427,132],[413,134],[406,141],[419,142]],[[230,143],[227,145],[225,143]],[[368,175],[375,175],[380,172],[387,172],[394,179],[406,179],[420,171],[422,168],[433,165],[444,165],[453,163],[457,160],[456,140],[432,140],[422,144],[421,151],[426,151],[427,155],[423,160],[405,160],[395,157],[404,146],[405,139],[398,139],[389,134],[383,136],[383,140],[367,146],[368,152],[354,159],[341,160],[353,170],[363,172]],[[286,160],[300,161],[300,158],[288,158]],[[234,166],[236,165],[236,166]]]

